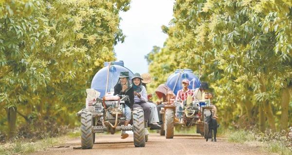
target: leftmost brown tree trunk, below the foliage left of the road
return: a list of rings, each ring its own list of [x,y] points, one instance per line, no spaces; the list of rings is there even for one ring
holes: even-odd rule
[[[16,135],[16,118],[17,109],[16,107],[10,107],[7,109],[7,121],[8,121],[8,137],[7,139],[14,138]]]

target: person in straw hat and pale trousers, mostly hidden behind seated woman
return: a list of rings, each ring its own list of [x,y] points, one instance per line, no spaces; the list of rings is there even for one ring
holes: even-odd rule
[[[152,81],[150,74],[144,73],[141,75],[142,78],[142,85],[147,88],[146,84],[150,83]],[[152,97],[152,94],[147,95],[148,102],[147,104],[150,106],[150,115],[148,119],[148,124],[150,126],[150,130],[160,130],[161,126],[159,123],[159,116],[158,116],[158,110],[156,107],[156,104],[149,102],[149,99]]]

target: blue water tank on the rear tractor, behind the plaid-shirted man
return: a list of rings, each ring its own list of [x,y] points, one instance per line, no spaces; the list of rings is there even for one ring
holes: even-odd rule
[[[190,81],[188,86],[189,89],[196,89],[200,87],[200,80],[193,74],[190,69],[177,69],[173,74],[171,74],[166,81],[166,85],[177,94],[179,90],[183,89],[182,81],[187,78]]]

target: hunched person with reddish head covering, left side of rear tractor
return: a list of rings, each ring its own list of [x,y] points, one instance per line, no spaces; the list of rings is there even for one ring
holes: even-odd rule
[[[172,92],[172,90],[167,87],[165,84],[159,85],[155,93],[159,99],[163,99],[162,102],[157,102],[157,112],[159,117],[159,124],[162,124],[162,115],[160,114],[161,108],[164,108],[164,102],[171,103],[171,98],[175,97],[175,94]],[[167,99],[167,94],[170,96],[170,99]]]

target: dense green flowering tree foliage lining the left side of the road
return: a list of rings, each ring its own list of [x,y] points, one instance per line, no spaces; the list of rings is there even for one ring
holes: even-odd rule
[[[113,45],[124,41],[119,11],[127,11],[129,3],[0,2],[0,108],[7,112],[8,138],[21,120],[76,123],[74,113],[84,105],[91,78],[103,62],[115,60]]]

